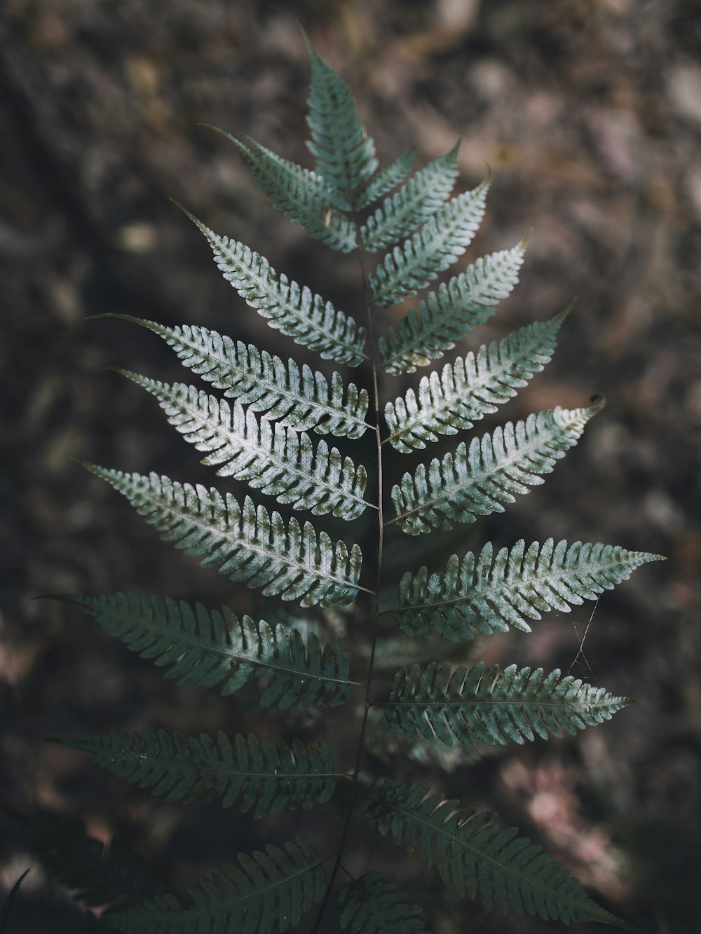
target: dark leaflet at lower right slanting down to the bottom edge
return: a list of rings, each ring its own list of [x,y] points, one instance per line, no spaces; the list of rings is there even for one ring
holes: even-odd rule
[[[556,919],[600,921],[633,930],[631,925],[590,899],[565,867],[550,860],[542,847],[517,828],[502,830],[494,814],[477,814],[432,794],[429,785],[411,787],[388,779],[370,800],[368,818],[382,836],[392,832],[409,855],[419,850],[427,869],[436,866],[444,884],[458,895],[478,895],[486,908],[493,903],[502,913]]]

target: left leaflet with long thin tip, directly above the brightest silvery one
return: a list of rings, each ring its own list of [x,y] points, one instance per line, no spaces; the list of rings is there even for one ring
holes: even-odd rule
[[[326,377],[306,363],[300,368],[292,359],[285,362],[208,328],[188,324],[170,328],[131,315],[94,317],[122,318],[148,328],[173,347],[184,366],[215,389],[223,389],[228,398],[279,419],[288,428],[360,438],[368,427],[367,389],[358,389],[354,383],[345,386],[336,370],[329,386]]]

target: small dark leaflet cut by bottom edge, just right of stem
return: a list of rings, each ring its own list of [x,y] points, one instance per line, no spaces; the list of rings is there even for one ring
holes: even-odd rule
[[[379,872],[366,872],[338,893],[341,927],[352,934],[428,934],[422,910]]]

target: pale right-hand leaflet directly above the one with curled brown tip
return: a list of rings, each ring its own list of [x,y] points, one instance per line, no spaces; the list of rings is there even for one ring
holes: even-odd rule
[[[569,309],[550,321],[536,321],[503,341],[470,351],[465,358],[446,363],[442,373],[422,376],[418,394],[408,389],[402,398],[387,403],[385,441],[404,454],[437,441],[438,435],[457,434],[475,421],[496,412],[515,396],[535,373],[551,361],[556,334]]]

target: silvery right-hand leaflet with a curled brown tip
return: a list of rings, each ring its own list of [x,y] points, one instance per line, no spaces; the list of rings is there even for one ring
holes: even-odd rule
[[[462,442],[443,460],[420,464],[416,474],[404,474],[392,490],[396,522],[408,535],[452,529],[453,522],[474,522],[478,516],[503,513],[504,502],[543,483],[556,460],[576,445],[584,426],[603,403],[563,409],[508,422],[492,434]]]

